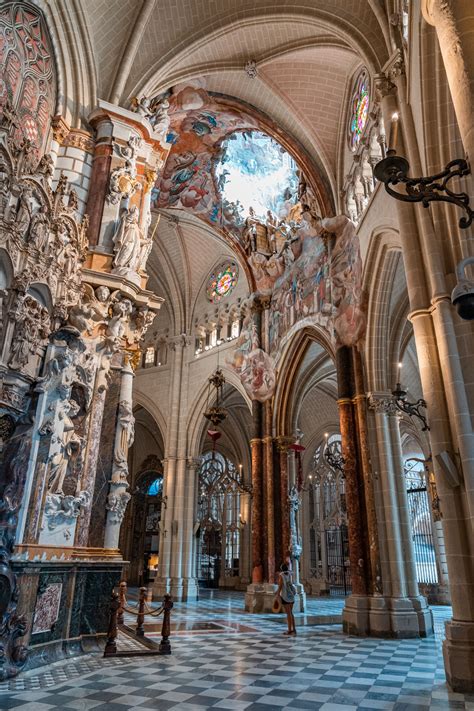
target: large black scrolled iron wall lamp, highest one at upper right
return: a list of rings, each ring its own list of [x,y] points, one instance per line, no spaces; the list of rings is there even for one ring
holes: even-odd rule
[[[428,207],[430,202],[450,202],[457,205],[466,214],[459,220],[459,227],[466,229],[472,223],[474,211],[469,206],[467,193],[455,193],[448,187],[453,178],[462,178],[471,171],[467,161],[457,158],[450,161],[445,169],[436,175],[426,178],[409,178],[410,164],[406,158],[397,156],[395,148],[398,135],[398,114],[392,115],[390,127],[389,148],[387,155],[374,167],[374,175],[385,185],[387,193],[396,200],[403,202],[421,202],[423,207]],[[403,184],[405,192],[393,190],[392,186]]]

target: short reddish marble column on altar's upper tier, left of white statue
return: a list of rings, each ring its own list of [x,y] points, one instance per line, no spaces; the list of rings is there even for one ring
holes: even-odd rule
[[[100,225],[112,162],[112,149],[111,138],[98,139],[94,148],[91,182],[86,205],[86,214],[89,217],[89,245],[91,247],[99,242]]]

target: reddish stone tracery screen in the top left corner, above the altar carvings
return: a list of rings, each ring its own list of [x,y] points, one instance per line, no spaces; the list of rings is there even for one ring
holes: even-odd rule
[[[25,2],[0,7],[0,111],[9,104],[20,121],[15,138],[32,142],[40,155],[56,104],[53,51],[40,11]]]

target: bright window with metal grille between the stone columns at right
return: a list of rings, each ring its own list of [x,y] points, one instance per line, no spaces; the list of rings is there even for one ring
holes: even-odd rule
[[[431,507],[423,466],[420,467],[419,462],[408,459],[405,462],[405,479],[416,577],[419,583],[437,583]]]

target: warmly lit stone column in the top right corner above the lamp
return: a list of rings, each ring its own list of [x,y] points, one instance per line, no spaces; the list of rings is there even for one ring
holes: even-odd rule
[[[423,0],[434,25],[448,77],[462,142],[474,162],[474,16],[471,0]]]

